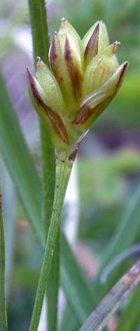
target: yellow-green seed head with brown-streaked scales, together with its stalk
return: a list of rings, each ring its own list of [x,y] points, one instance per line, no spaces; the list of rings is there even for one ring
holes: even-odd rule
[[[29,95],[50,136],[56,155],[55,198],[38,281],[30,331],[38,328],[45,288],[59,233],[62,207],[73,162],[83,137],[118,92],[128,62],[118,64],[120,43],[110,44],[104,22],[83,39],[62,18],[50,45],[50,67],[40,57],[36,73],[27,69]]]

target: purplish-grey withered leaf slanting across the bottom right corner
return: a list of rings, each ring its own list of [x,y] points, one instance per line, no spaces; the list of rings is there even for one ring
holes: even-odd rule
[[[140,260],[111,289],[99,306],[97,306],[97,309],[87,318],[80,331],[102,331],[111,316],[113,316],[113,313],[123,304],[139,282]]]

